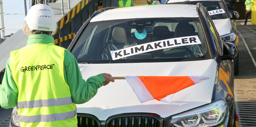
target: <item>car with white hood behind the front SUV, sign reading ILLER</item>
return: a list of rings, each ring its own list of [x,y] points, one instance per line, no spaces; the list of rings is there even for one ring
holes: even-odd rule
[[[239,18],[236,11],[227,10],[224,0],[167,0],[165,4],[187,4],[196,5],[200,2],[212,18],[213,23],[220,37],[227,42],[235,44],[238,50],[238,32],[236,30],[235,19]],[[234,60],[234,72],[238,74],[238,57]]]

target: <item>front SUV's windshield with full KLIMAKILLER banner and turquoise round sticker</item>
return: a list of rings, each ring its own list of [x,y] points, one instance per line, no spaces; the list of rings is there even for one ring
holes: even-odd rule
[[[142,18],[90,22],[71,53],[78,63],[209,59],[199,18]]]

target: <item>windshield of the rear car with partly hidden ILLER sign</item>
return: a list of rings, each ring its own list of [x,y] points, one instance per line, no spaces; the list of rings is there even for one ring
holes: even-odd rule
[[[171,1],[171,0],[170,0]],[[227,12],[224,9],[224,5],[221,1],[184,1],[184,2],[174,2],[174,3],[167,3],[167,4],[191,4],[197,5],[197,3],[201,3],[209,12],[209,15],[212,19],[227,19]],[[216,10],[216,11],[213,11]],[[218,13],[223,12],[223,13]]]

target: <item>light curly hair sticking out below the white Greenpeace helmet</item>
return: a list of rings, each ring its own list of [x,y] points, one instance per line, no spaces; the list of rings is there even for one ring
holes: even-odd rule
[[[27,35],[32,35],[32,34],[47,34],[47,35],[54,35],[58,29],[58,26],[56,26],[55,31],[42,31],[42,30],[30,30],[28,24],[25,22],[22,24],[21,29],[24,31],[25,34]]]

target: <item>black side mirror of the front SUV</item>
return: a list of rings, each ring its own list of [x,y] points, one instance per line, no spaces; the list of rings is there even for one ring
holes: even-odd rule
[[[232,60],[237,55],[235,44],[231,42],[224,42],[223,55],[220,56],[221,60]]]

